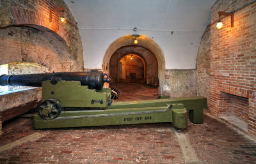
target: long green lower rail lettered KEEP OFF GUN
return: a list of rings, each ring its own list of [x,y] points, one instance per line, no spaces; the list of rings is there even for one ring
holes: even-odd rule
[[[69,111],[63,112],[58,118],[52,120],[44,120],[38,115],[35,115],[34,126],[35,129],[44,129],[116,124],[172,123],[173,110],[175,109],[179,117],[186,119],[186,109],[182,104],[177,104],[173,106],[169,105],[169,107],[165,105],[164,107],[156,108],[141,107],[126,108],[125,110],[121,108],[115,110]],[[118,116],[115,116],[115,114],[118,114]],[[182,114],[184,116],[181,116]],[[186,124],[184,126],[184,122],[186,121],[179,119],[177,119],[177,121],[175,123],[177,128],[186,128]]]

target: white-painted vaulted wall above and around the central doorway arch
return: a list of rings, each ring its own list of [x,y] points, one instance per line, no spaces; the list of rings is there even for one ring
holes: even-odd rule
[[[193,69],[216,0],[65,0],[81,34],[84,68],[101,68],[109,45],[127,34],[152,38],[166,69]],[[132,31],[137,27],[138,31]]]

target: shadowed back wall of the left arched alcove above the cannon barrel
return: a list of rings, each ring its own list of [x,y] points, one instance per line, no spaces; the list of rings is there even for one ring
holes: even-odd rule
[[[8,26],[0,30],[0,37],[5,54],[0,56],[0,64],[29,62],[49,71],[79,71],[65,40],[46,27]]]

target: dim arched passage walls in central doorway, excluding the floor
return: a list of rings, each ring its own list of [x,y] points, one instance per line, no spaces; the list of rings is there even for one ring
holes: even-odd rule
[[[150,50],[140,46],[121,47],[109,61],[111,82],[140,82],[159,86],[157,59]]]

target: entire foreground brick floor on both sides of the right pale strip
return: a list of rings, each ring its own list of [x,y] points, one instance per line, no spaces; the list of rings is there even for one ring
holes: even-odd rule
[[[256,143],[212,117],[181,130],[200,163],[256,163]],[[33,130],[31,118],[3,124],[0,146],[39,132],[42,137],[0,153],[0,163],[186,163],[172,126],[136,124]]]

